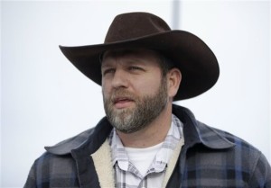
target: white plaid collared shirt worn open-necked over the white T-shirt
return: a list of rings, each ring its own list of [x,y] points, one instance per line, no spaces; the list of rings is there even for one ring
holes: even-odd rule
[[[164,139],[162,148],[159,149],[154,157],[155,160],[151,166],[149,166],[146,175],[141,175],[136,169],[136,166],[129,160],[126,149],[117,136],[117,131],[113,129],[109,136],[109,144],[115,168],[116,187],[161,187],[164,180],[166,165],[180,139],[183,139],[182,122],[175,115],[172,115],[172,124]],[[128,182],[130,182],[130,184]]]

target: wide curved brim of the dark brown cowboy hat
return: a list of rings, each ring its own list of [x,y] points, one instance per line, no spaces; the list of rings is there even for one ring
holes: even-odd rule
[[[101,85],[100,55],[108,49],[145,48],[161,52],[182,72],[174,101],[189,99],[209,90],[220,76],[217,58],[197,36],[187,31],[165,31],[133,40],[79,47],[60,46],[62,53],[85,76]]]

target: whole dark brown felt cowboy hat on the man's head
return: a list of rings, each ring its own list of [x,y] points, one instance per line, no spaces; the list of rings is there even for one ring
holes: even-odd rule
[[[171,30],[164,20],[152,13],[117,15],[102,44],[60,48],[75,67],[98,85],[101,85],[100,56],[106,50],[159,51],[182,72],[182,83],[174,101],[206,92],[220,75],[217,58],[200,38],[187,31]]]

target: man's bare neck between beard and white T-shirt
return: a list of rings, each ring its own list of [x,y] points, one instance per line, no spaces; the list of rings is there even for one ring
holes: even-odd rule
[[[123,145],[129,148],[148,148],[164,141],[172,123],[172,104],[168,103],[163,112],[142,130],[133,133],[117,131]]]

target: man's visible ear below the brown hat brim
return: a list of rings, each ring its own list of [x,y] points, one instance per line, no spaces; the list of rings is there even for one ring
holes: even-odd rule
[[[173,98],[180,87],[182,81],[182,73],[179,68],[173,68],[168,73],[168,95],[170,98]]]

